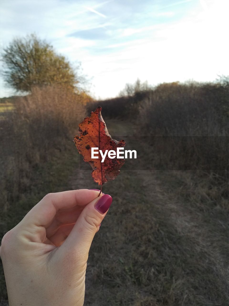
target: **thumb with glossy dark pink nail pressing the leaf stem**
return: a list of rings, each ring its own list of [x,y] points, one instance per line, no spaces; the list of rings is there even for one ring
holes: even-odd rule
[[[105,194],[87,204],[61,247],[67,248],[72,253],[88,253],[92,240],[111,203],[112,197]]]

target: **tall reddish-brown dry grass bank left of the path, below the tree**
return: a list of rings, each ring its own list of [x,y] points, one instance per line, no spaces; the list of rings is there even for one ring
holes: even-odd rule
[[[85,97],[64,87],[34,88],[17,97],[0,121],[0,238],[48,192],[69,189],[78,160],[73,137],[85,116]],[[7,298],[0,267],[0,304]]]

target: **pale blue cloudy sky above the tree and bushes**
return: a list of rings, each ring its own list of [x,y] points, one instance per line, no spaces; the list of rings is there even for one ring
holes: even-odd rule
[[[75,67],[96,99],[137,78],[151,85],[229,74],[228,0],[1,0],[0,51],[36,33]],[[0,97],[14,95],[0,76]]]

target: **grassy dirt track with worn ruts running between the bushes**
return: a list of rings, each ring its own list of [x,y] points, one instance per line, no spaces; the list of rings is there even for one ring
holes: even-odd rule
[[[108,120],[107,128],[136,147],[132,125]],[[127,160],[104,185],[114,201],[89,254],[85,305],[229,304],[228,214],[185,199],[179,173],[149,167],[144,140],[137,148],[138,164]],[[72,188],[98,188],[89,169],[76,170]]]

